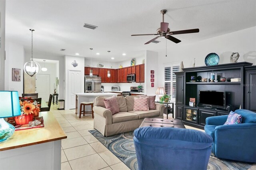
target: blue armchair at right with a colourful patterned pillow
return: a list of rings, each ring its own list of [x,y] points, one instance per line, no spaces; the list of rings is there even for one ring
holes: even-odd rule
[[[212,153],[218,158],[256,162],[256,113],[245,109],[235,111],[242,115],[242,123],[224,125],[228,115],[208,117],[204,131],[212,136]]]

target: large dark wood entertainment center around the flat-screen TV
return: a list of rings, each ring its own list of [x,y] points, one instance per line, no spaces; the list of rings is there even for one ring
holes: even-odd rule
[[[196,128],[204,129],[205,119],[211,116],[228,115],[230,111],[219,108],[198,106],[199,91],[225,91],[226,106],[230,110],[248,109],[256,112],[256,66],[252,63],[239,62],[214,66],[184,68],[184,72],[176,72],[176,107],[175,118]],[[240,78],[241,81],[210,82],[210,73],[215,73],[215,80],[220,77]],[[217,78],[218,74],[218,78]],[[191,76],[207,78],[206,82],[196,80]],[[214,96],[209,96],[213,97]],[[196,98],[195,107],[189,106],[190,98]]]

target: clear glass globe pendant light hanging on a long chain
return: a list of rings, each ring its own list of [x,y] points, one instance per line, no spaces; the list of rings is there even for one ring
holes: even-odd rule
[[[34,76],[40,72],[40,65],[33,61],[33,29],[29,29],[32,33],[32,39],[31,39],[31,59],[30,61],[26,62],[24,65],[24,71],[29,76]]]

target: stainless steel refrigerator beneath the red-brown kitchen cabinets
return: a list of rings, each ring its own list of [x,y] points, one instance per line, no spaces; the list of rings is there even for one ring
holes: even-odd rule
[[[101,77],[84,76],[84,93],[101,92]]]

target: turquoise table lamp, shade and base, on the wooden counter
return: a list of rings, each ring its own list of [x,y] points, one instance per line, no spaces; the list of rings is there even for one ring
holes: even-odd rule
[[[0,142],[12,136],[15,131],[14,126],[7,123],[4,118],[18,115],[20,115],[18,91],[0,91]]]

